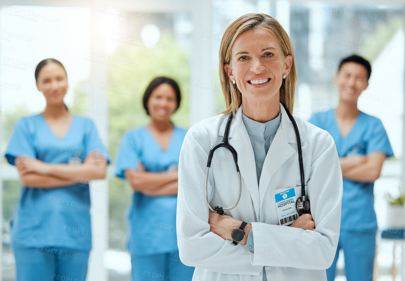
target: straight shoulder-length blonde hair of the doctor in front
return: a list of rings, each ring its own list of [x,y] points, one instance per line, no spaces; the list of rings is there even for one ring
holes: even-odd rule
[[[294,50],[292,48],[291,40],[276,19],[266,14],[254,13],[243,15],[239,19],[235,20],[228,26],[224,36],[222,36],[220,45],[219,70],[221,88],[222,92],[224,93],[226,109],[221,113],[228,114],[232,112],[235,114],[242,104],[242,94],[236,84],[234,85],[230,81],[228,74],[225,72],[224,64],[228,63],[231,67],[231,51],[236,38],[254,28],[267,29],[277,38],[284,59],[286,56],[292,55],[292,66],[290,73],[285,79],[283,79],[280,87],[280,103],[292,113],[292,109],[294,107],[294,93],[297,75],[294,62]]]

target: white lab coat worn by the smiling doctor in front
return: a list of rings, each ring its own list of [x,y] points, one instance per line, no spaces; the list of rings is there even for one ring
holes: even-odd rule
[[[196,267],[193,281],[262,281],[263,266],[268,281],[326,281],[325,269],[332,264],[339,239],[343,192],[335,142],[325,130],[294,117],[301,137],[305,191],[315,231],[280,226],[274,195],[294,187],[296,196],[301,196],[296,135],[281,103],[280,110],[281,123],[264,160],[259,185],[241,107],[228,135],[238,155],[242,194],[239,204],[225,214],[252,224],[254,252],[210,232],[208,224],[208,153],[222,141],[228,115],[207,118],[188,130],[179,160],[176,228],[180,260]],[[232,154],[219,148],[209,170],[211,206],[229,208],[238,194],[239,178]]]

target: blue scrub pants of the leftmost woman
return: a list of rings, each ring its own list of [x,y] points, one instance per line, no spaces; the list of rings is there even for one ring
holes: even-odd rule
[[[17,281],[85,281],[89,251],[38,247],[13,249]]]

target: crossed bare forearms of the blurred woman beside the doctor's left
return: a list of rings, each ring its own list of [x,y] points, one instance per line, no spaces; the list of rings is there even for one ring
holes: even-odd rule
[[[148,196],[177,195],[179,172],[147,172],[141,162],[138,162],[138,170],[128,169],[124,171],[125,177],[130,182],[134,191]]]

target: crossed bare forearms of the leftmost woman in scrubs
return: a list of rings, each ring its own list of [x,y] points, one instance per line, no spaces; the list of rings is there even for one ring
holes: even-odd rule
[[[21,183],[26,187],[52,188],[88,183],[105,177],[107,159],[98,151],[90,152],[79,165],[46,163],[31,157],[16,157]]]

